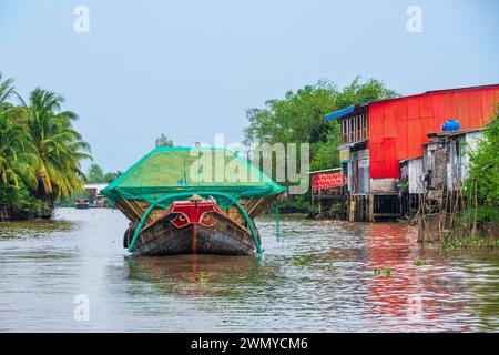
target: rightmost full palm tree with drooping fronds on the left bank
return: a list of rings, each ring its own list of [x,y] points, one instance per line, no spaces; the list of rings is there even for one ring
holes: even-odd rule
[[[63,98],[37,88],[24,103],[22,120],[28,129],[37,154],[34,165],[38,179],[38,195],[54,200],[68,197],[83,187],[80,160],[92,159],[90,145],[73,130],[78,115],[61,111]]]

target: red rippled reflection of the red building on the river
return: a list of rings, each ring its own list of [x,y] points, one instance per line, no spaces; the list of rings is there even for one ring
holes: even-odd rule
[[[468,304],[477,294],[470,293],[473,281],[465,271],[466,263],[458,262],[461,255],[424,250],[414,234],[395,224],[369,224],[365,235],[367,270],[373,273],[391,270],[389,276],[381,274],[369,278],[370,295],[366,305],[370,312],[366,312],[366,317],[398,318],[398,322],[386,322],[386,331],[404,326],[409,331],[466,332],[477,325],[479,318]],[[418,257],[425,257],[426,264],[417,266]],[[496,273],[497,266],[496,263],[492,267]],[[492,288],[497,286],[496,282]],[[496,312],[496,321],[498,315]]]

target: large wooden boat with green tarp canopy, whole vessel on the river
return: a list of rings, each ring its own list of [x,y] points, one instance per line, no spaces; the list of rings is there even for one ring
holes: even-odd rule
[[[156,148],[102,190],[130,220],[136,256],[262,253],[254,217],[287,191],[217,148]]]

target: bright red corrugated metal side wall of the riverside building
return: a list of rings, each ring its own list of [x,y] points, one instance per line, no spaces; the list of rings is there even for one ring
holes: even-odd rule
[[[370,178],[398,178],[398,161],[420,156],[427,134],[446,120],[460,129],[487,125],[496,114],[499,85],[430,91],[368,104]]]

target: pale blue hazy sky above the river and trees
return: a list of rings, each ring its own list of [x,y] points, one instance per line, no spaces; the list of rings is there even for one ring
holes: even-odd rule
[[[78,6],[89,31],[77,32]],[[410,6],[421,12],[409,32]],[[65,98],[104,171],[161,133],[243,140],[246,109],[319,79],[401,94],[499,83],[497,0],[0,0],[0,71]],[[89,162],[84,162],[86,169]]]

